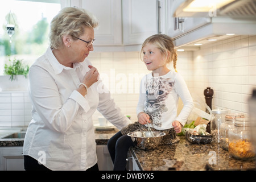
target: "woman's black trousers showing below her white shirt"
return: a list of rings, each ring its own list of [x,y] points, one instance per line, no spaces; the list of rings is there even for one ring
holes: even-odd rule
[[[51,169],[43,166],[43,164],[39,164],[38,160],[28,155],[24,155],[24,168],[26,171],[51,171]],[[98,171],[98,164],[96,163],[86,171]]]

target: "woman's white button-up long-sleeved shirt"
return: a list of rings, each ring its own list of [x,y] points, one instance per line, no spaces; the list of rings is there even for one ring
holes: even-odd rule
[[[91,65],[88,59],[65,67],[51,48],[32,64],[28,88],[32,119],[23,145],[29,155],[52,170],[86,170],[97,163],[92,115],[96,109],[121,129],[130,120],[115,105],[101,80],[82,96],[77,88]]]

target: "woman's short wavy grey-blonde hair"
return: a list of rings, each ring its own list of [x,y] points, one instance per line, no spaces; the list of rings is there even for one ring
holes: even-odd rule
[[[65,7],[51,21],[50,46],[52,49],[60,48],[63,45],[63,35],[71,35],[76,40],[75,37],[84,34],[84,27],[95,28],[97,26],[96,18],[88,11]]]

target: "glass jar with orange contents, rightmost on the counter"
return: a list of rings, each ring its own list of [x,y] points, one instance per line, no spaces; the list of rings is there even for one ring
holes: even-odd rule
[[[234,121],[234,128],[229,131],[229,155],[241,160],[254,159],[248,118],[236,118]]]

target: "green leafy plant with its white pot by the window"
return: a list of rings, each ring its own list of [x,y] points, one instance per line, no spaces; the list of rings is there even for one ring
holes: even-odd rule
[[[29,67],[22,61],[9,57],[9,64],[5,64],[5,75],[0,77],[0,91],[27,90]]]

